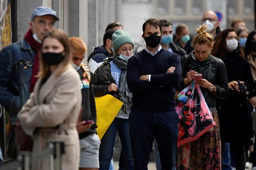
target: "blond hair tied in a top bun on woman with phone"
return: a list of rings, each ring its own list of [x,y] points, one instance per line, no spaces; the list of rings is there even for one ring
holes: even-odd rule
[[[207,44],[209,47],[212,45],[213,37],[212,34],[209,34],[207,31],[207,26],[199,26],[199,28],[196,29],[197,35],[193,38],[192,41],[192,47],[194,47],[195,44]]]

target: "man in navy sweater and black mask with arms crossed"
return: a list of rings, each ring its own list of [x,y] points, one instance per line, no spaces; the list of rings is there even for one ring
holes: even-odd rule
[[[128,60],[127,85],[133,94],[129,116],[134,170],[147,170],[154,138],[162,170],[176,170],[179,116],[175,89],[181,78],[180,57],[160,45],[161,24],[143,24],[146,47]]]

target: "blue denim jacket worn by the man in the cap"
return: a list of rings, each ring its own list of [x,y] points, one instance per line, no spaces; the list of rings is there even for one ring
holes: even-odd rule
[[[23,39],[0,52],[0,104],[9,111],[14,125],[17,113],[29,99],[35,51]]]

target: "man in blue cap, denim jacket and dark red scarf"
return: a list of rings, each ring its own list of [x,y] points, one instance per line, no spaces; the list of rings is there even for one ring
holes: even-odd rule
[[[9,145],[15,156],[14,127],[17,113],[29,99],[39,71],[39,51],[44,36],[59,20],[51,8],[39,6],[32,13],[29,30],[22,41],[0,52],[0,104],[10,113],[11,139]],[[19,146],[18,146],[19,147]]]

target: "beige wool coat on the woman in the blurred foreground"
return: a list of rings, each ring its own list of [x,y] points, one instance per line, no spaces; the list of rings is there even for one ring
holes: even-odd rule
[[[76,130],[81,108],[79,81],[77,71],[71,66],[58,77],[53,72],[41,88],[41,79],[38,79],[29,100],[18,113],[23,130],[33,138],[33,153],[44,151],[50,141],[64,141],[62,170],[79,169],[80,146]],[[49,170],[49,159],[33,162],[32,170]]]

